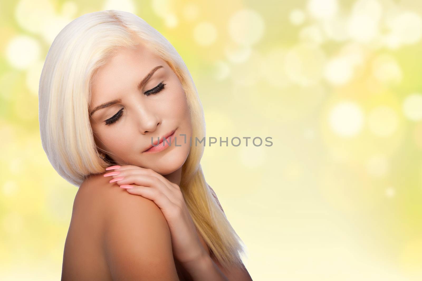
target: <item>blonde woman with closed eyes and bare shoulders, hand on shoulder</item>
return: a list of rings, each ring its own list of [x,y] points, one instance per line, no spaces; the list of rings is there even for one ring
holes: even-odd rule
[[[39,106],[43,149],[79,187],[62,280],[252,280],[200,166],[192,77],[156,29],[116,10],[73,20],[47,54]]]

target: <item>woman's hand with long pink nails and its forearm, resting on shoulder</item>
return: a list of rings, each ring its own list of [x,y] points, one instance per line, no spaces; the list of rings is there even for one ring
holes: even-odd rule
[[[113,171],[120,173],[111,174],[111,177],[123,177],[116,181],[117,185],[131,194],[154,201],[161,209],[170,229],[173,255],[179,262],[187,265],[208,255],[199,240],[179,185],[139,166],[125,165]]]

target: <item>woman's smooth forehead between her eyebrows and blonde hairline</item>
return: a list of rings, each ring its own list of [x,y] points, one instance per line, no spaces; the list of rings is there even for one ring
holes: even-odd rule
[[[141,79],[158,65],[167,68],[165,61],[146,45],[119,48],[93,77],[91,105],[120,97],[124,91],[136,89]],[[160,71],[163,70],[158,70]]]

